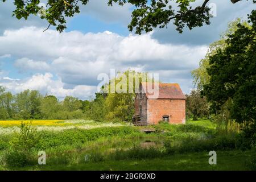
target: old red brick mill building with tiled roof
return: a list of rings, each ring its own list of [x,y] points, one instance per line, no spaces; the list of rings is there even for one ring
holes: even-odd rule
[[[179,84],[159,83],[159,94],[153,96],[147,92],[147,83],[142,82],[135,97],[135,118],[143,124],[185,123],[185,96]]]

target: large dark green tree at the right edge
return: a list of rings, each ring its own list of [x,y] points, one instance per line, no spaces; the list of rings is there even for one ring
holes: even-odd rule
[[[203,86],[203,95],[210,109],[218,113],[228,100],[230,117],[237,122],[256,119],[256,11],[249,15],[251,27],[237,24],[238,29],[228,35],[226,47],[218,48],[209,57],[209,83]]]

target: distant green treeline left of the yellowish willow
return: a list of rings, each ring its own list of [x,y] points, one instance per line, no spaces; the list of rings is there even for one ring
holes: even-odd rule
[[[38,90],[12,94],[0,86],[0,119],[100,119],[104,117],[104,98],[98,94],[92,101],[67,96],[43,96]]]

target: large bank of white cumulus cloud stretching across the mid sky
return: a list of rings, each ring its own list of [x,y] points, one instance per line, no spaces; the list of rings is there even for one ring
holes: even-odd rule
[[[51,72],[61,82],[52,81],[52,75],[47,73],[33,75],[17,88],[11,84],[7,84],[7,87],[46,92],[51,90],[47,85],[56,85],[60,89],[55,88],[51,93],[58,90],[60,93],[56,94],[59,96],[63,96],[63,93],[80,95],[80,89],[88,90],[87,86],[94,88],[100,82],[97,80],[98,74],[110,73],[111,68],[116,71],[135,68],[137,71],[160,73],[160,80],[168,82],[184,79],[187,82],[183,81],[181,87],[187,92],[191,86],[190,71],[197,67],[207,52],[207,46],[161,44],[152,38],[152,33],[140,36],[120,36],[109,31],[59,34],[53,30],[43,32],[42,28],[36,27],[5,31],[0,36],[0,45],[5,45],[1,47],[0,55],[11,51],[14,57],[19,58],[14,62],[17,69],[32,73]],[[181,74],[175,77],[174,72]],[[39,81],[36,82],[36,79]]]

